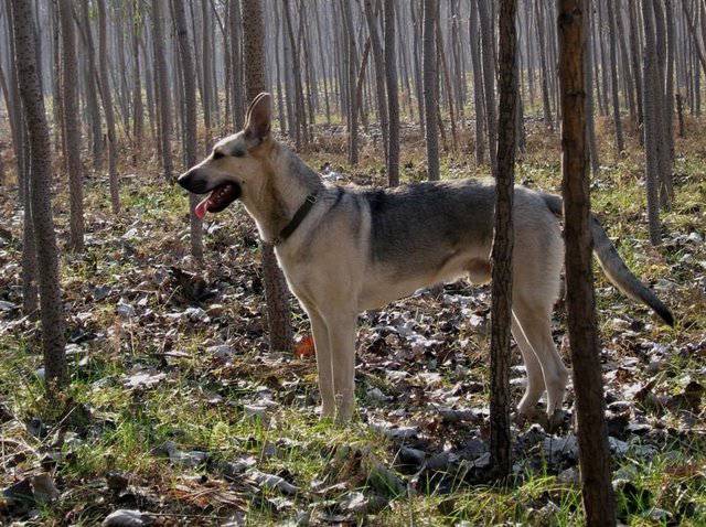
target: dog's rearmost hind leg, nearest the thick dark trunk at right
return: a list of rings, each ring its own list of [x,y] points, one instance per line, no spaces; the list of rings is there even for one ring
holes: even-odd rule
[[[513,299],[513,311],[524,336],[539,361],[544,386],[547,390],[547,416],[553,419],[564,401],[569,373],[561,362],[552,338],[550,308],[528,302],[526,297]]]

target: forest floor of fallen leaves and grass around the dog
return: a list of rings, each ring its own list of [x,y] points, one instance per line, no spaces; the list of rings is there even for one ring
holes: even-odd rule
[[[700,123],[700,128],[703,129]],[[602,129],[602,128],[606,129]],[[673,308],[674,330],[597,272],[610,444],[620,519],[706,524],[706,138],[694,122],[676,144],[676,198],[664,244],[648,240],[643,158],[614,160],[609,127],[592,179],[593,209],[631,269]],[[344,164],[320,133],[303,158],[342,183],[384,183],[365,147]],[[556,133],[530,127],[516,180],[558,192]],[[424,178],[424,146],[406,138],[403,181]],[[127,158],[127,155],[126,155]],[[188,201],[156,159],[121,166],[122,213],[107,181],[86,181],[87,248],[62,250],[72,385],[43,395],[36,324],[22,316],[21,212],[0,189],[0,524],[96,525],[116,509],[143,525],[577,525],[576,437],[513,428],[506,484],[488,465],[490,293],[449,284],[361,315],[359,415],[320,422],[309,323],[292,300],[298,354],[267,346],[256,232],[239,204],[208,216],[205,261],[189,256]],[[485,174],[445,155],[443,178]],[[346,175],[343,175],[346,174]],[[56,185],[60,245],[65,184]],[[565,311],[554,334],[568,363]],[[513,348],[514,349],[514,348]],[[513,396],[525,374],[514,352]],[[135,524],[142,525],[142,524]]]

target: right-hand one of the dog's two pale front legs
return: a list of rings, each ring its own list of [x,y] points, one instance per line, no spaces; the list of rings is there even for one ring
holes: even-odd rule
[[[355,409],[355,314],[336,313],[327,321],[333,358],[336,422],[346,423]]]

